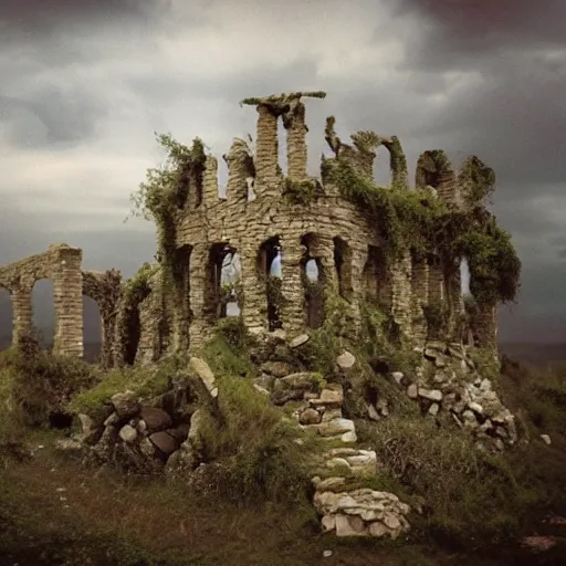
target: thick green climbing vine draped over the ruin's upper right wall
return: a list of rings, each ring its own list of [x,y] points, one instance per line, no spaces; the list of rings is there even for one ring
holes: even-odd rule
[[[434,158],[441,160],[442,155]],[[461,174],[467,184],[467,210],[455,209],[428,188],[378,187],[344,161],[323,159],[322,176],[376,222],[389,259],[409,249],[422,258],[439,254],[447,264],[465,258],[470,289],[478,301],[515,300],[521,261],[511,235],[483,206],[493,191],[494,174],[478,158],[468,159]]]

